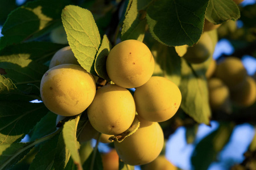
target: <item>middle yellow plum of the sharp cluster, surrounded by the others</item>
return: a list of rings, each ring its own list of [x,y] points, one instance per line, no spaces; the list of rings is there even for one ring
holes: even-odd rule
[[[123,133],[135,117],[135,103],[130,92],[115,84],[99,88],[88,107],[88,118],[100,133],[114,135]]]

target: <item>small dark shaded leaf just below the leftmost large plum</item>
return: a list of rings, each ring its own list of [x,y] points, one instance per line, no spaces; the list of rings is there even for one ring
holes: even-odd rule
[[[57,114],[48,112],[35,126],[32,131],[30,141],[42,138],[47,134],[53,133],[56,130],[56,117]]]

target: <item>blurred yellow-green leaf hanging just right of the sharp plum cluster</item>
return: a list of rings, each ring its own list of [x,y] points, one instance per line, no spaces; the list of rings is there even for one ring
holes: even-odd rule
[[[199,65],[200,66],[200,65]],[[210,107],[208,102],[206,68],[202,66],[188,65],[185,59],[181,59],[181,109],[196,122],[209,125]],[[193,67],[197,67],[196,71]]]

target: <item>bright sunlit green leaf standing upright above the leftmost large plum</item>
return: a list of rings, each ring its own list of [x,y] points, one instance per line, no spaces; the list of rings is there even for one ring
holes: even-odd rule
[[[63,9],[61,18],[77,61],[86,71],[97,75],[94,60],[101,37],[92,13],[79,6],[69,5]]]

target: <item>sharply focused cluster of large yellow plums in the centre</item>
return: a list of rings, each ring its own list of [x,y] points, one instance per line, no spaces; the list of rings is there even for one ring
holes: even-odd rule
[[[108,138],[129,130],[136,116],[139,128],[122,142],[114,142],[114,146],[123,162],[146,164],[156,159],[163,148],[163,131],[158,122],[174,116],[181,103],[175,83],[152,76],[154,65],[154,57],[143,42],[122,41],[106,59],[112,82],[96,90],[94,77],[66,47],[53,56],[50,69],[43,75],[42,100],[60,116],[74,116],[86,110],[89,122],[81,131],[80,142],[96,138],[98,133],[100,142],[111,142]],[[130,88],[135,88],[134,95]]]

